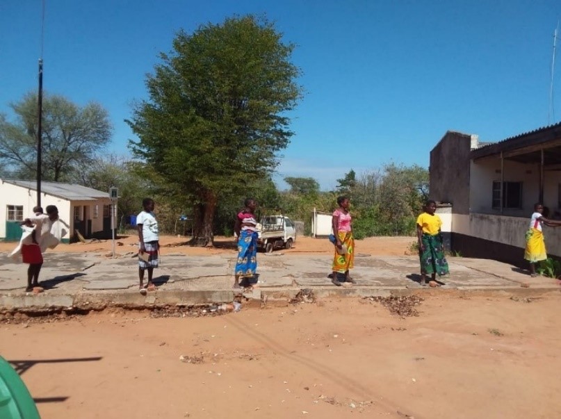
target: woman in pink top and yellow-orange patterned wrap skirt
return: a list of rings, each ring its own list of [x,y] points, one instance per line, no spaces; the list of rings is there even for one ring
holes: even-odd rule
[[[333,211],[332,228],[335,236],[335,250],[332,264],[332,274],[330,278],[333,284],[341,286],[342,275],[344,281],[356,284],[352,279],[349,270],[355,265],[355,239],[352,238],[352,217],[350,216],[348,197],[337,198],[339,208]]]

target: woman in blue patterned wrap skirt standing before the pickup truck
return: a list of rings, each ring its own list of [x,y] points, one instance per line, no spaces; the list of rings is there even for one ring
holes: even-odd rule
[[[253,277],[257,272],[257,220],[255,220],[255,199],[247,198],[245,208],[236,217],[234,232],[238,236],[238,261],[234,288],[242,288],[240,277]]]

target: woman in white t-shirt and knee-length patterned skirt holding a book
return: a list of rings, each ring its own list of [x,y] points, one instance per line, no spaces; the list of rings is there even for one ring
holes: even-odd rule
[[[145,295],[146,291],[156,290],[152,283],[154,268],[159,264],[159,236],[158,220],[154,215],[154,199],[143,199],[143,208],[136,216],[136,227],[138,229],[139,250],[138,250],[138,279],[140,279],[140,293]],[[144,271],[148,271],[148,284],[144,286]]]

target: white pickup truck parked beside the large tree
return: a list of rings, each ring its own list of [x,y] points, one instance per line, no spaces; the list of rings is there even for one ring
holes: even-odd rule
[[[284,215],[266,215],[261,217],[257,224],[257,243],[265,252],[285,247],[290,249],[296,241],[296,228],[294,223]]]

